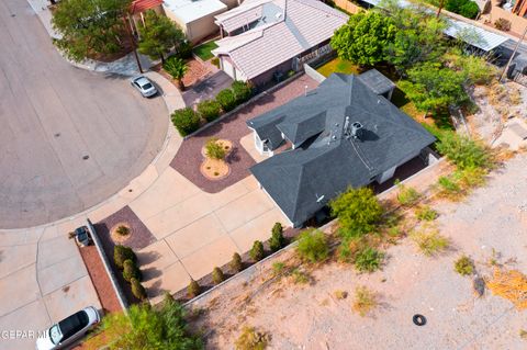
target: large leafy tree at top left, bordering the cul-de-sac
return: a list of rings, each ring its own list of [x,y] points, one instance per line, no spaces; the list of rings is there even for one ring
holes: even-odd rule
[[[123,48],[125,16],[131,0],[63,0],[53,12],[52,26],[60,34],[54,44],[67,58],[81,61]]]

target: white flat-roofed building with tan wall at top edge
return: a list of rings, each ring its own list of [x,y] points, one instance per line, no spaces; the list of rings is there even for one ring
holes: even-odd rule
[[[214,16],[237,5],[237,0],[165,0],[162,7],[192,43],[218,32]]]

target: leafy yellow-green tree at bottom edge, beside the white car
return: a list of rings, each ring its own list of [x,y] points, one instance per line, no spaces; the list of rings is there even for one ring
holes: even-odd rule
[[[127,314],[112,313],[101,323],[104,343],[99,337],[87,341],[88,348],[106,346],[110,350],[198,350],[203,349],[200,337],[188,330],[183,307],[173,300],[166,298],[160,308],[149,305],[132,305]]]

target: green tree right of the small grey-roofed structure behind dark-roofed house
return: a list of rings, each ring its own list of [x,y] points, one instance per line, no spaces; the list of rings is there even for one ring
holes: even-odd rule
[[[408,70],[408,80],[400,88],[421,111],[439,111],[469,101],[464,76],[440,64],[425,63]]]

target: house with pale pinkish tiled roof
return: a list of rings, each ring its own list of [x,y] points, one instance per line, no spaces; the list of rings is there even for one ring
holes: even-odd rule
[[[216,15],[222,36],[212,53],[233,79],[262,84],[332,50],[348,15],[317,0],[246,0]]]

